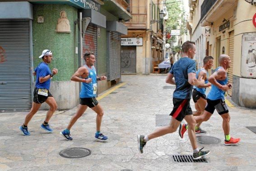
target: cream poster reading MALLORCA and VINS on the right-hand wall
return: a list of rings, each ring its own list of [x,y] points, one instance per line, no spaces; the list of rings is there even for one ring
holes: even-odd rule
[[[242,35],[241,76],[256,78],[256,32]]]

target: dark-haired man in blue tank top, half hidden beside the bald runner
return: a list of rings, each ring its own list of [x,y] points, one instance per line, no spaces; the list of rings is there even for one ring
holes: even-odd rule
[[[205,80],[205,83],[208,83],[208,70],[212,68],[214,58],[212,56],[205,56],[203,62],[204,65],[201,69],[198,69],[195,78],[198,79],[199,77],[202,77],[202,79]],[[202,115],[205,106],[207,104],[206,102],[206,95],[205,95],[206,88],[198,88],[194,86],[193,92],[192,92],[192,98],[195,102],[195,109],[196,111],[193,111],[194,116]],[[200,128],[201,123],[197,123],[195,125],[195,134],[206,134],[206,131]],[[187,126],[187,125],[186,125]]]

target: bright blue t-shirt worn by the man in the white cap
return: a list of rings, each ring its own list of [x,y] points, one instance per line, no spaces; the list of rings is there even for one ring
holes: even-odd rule
[[[35,69],[35,72],[37,73],[36,88],[46,88],[49,90],[51,79],[48,79],[43,83],[39,82],[40,77],[46,77],[47,75],[51,74],[51,69],[49,68],[48,64],[41,62]]]

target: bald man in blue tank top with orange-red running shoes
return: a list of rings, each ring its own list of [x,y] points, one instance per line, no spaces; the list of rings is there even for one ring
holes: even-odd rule
[[[228,107],[225,103],[225,93],[228,89],[232,88],[232,84],[228,81],[228,74],[226,70],[230,68],[231,60],[228,55],[219,56],[220,66],[216,69],[214,74],[209,77],[209,82],[212,83],[212,88],[207,96],[207,106],[205,111],[201,116],[195,116],[196,123],[209,120],[209,118],[214,113],[215,109],[222,117],[222,127],[225,135],[224,144],[225,145],[235,145],[240,142],[240,138],[230,137],[230,115],[228,112]],[[182,127],[182,137],[186,132],[186,127]]]

